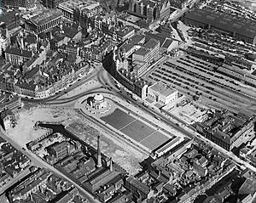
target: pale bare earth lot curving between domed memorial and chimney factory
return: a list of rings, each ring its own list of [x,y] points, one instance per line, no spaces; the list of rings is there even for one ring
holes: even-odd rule
[[[72,108],[32,107],[29,110],[20,110],[16,117],[17,126],[9,130],[9,137],[21,147],[46,132],[44,129],[33,129],[36,121],[64,121],[63,123],[67,124],[67,130],[95,148],[96,137],[100,134],[102,153],[108,157],[113,157],[113,161],[131,174],[136,174],[140,169],[139,162],[147,158],[146,155],[131,148],[130,145],[121,143],[113,136],[105,133],[96,124],[90,123]]]

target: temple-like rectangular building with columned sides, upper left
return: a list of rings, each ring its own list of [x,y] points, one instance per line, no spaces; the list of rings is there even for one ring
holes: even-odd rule
[[[62,23],[62,16],[63,14],[58,9],[44,10],[43,13],[26,20],[25,28],[27,31],[32,31],[36,34],[49,31]]]

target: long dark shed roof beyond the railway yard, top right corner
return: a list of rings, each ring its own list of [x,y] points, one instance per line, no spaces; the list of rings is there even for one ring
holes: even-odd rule
[[[212,25],[231,31],[241,36],[254,38],[256,36],[256,22],[254,20],[239,17],[234,14],[226,14],[212,8],[195,8],[185,14],[185,18],[202,22],[206,25]]]

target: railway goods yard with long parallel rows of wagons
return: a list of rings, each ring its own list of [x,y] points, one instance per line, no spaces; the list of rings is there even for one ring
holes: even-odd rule
[[[180,94],[217,108],[255,112],[256,76],[252,74],[255,65],[243,59],[243,55],[254,47],[233,42],[229,37],[221,44],[215,43],[215,37],[217,40],[223,37],[207,32],[199,37],[200,30],[192,31],[189,32],[192,42],[182,55],[168,57],[144,78],[164,82]],[[233,54],[240,54],[240,57],[235,59]]]

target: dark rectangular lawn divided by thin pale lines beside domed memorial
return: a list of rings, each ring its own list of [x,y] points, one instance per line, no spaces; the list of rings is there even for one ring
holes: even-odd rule
[[[103,116],[101,119],[151,150],[170,139],[165,134],[158,132],[157,129],[149,127],[143,121],[137,120],[120,109],[114,110],[111,115]]]

